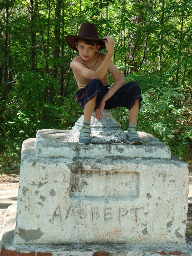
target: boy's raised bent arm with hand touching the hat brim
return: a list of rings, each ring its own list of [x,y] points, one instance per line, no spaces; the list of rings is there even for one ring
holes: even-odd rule
[[[113,38],[106,36],[105,37],[105,47],[108,50],[108,53],[105,55],[104,60],[102,61],[102,63],[99,65],[99,67],[94,71],[94,70],[90,70],[87,69],[86,67],[84,67],[84,65],[80,62],[77,61],[72,61],[70,64],[70,67],[72,70],[74,70],[77,74],[79,74],[80,76],[83,76],[84,78],[87,79],[100,79],[102,80],[108,70],[108,66],[110,64],[111,58],[113,57],[113,53],[114,53],[114,40]]]

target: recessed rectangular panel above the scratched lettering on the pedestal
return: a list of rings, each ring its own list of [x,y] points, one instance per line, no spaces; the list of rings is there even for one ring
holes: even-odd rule
[[[70,198],[131,200],[138,197],[138,172],[71,170]],[[107,211],[106,218],[110,218]]]

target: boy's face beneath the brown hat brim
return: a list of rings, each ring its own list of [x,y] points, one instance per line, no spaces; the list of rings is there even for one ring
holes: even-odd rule
[[[84,61],[90,61],[95,52],[97,52],[99,50],[99,45],[89,45],[89,44],[85,44],[83,41],[80,41],[78,43],[75,43],[76,47],[79,51],[79,55],[80,57],[84,60]]]

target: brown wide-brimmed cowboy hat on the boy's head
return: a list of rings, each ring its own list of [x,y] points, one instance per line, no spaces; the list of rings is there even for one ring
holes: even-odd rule
[[[105,48],[105,42],[99,38],[97,27],[93,23],[82,23],[78,35],[67,35],[66,43],[74,50],[78,51],[75,45],[75,40],[78,38],[96,40],[100,44],[99,51]]]

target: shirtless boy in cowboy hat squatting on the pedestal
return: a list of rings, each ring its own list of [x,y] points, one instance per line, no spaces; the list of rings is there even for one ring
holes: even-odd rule
[[[82,23],[79,34],[68,35],[67,44],[79,55],[71,61],[79,90],[76,99],[84,109],[84,121],[79,132],[79,143],[88,145],[90,139],[90,119],[94,110],[96,118],[101,120],[103,109],[113,109],[118,106],[129,110],[128,133],[126,142],[143,144],[137,131],[137,117],[142,101],[140,85],[136,81],[126,83],[124,76],[111,60],[114,54],[115,42],[111,36],[100,39],[95,24]],[[98,52],[106,48],[108,53]],[[115,80],[109,85],[107,70]]]

